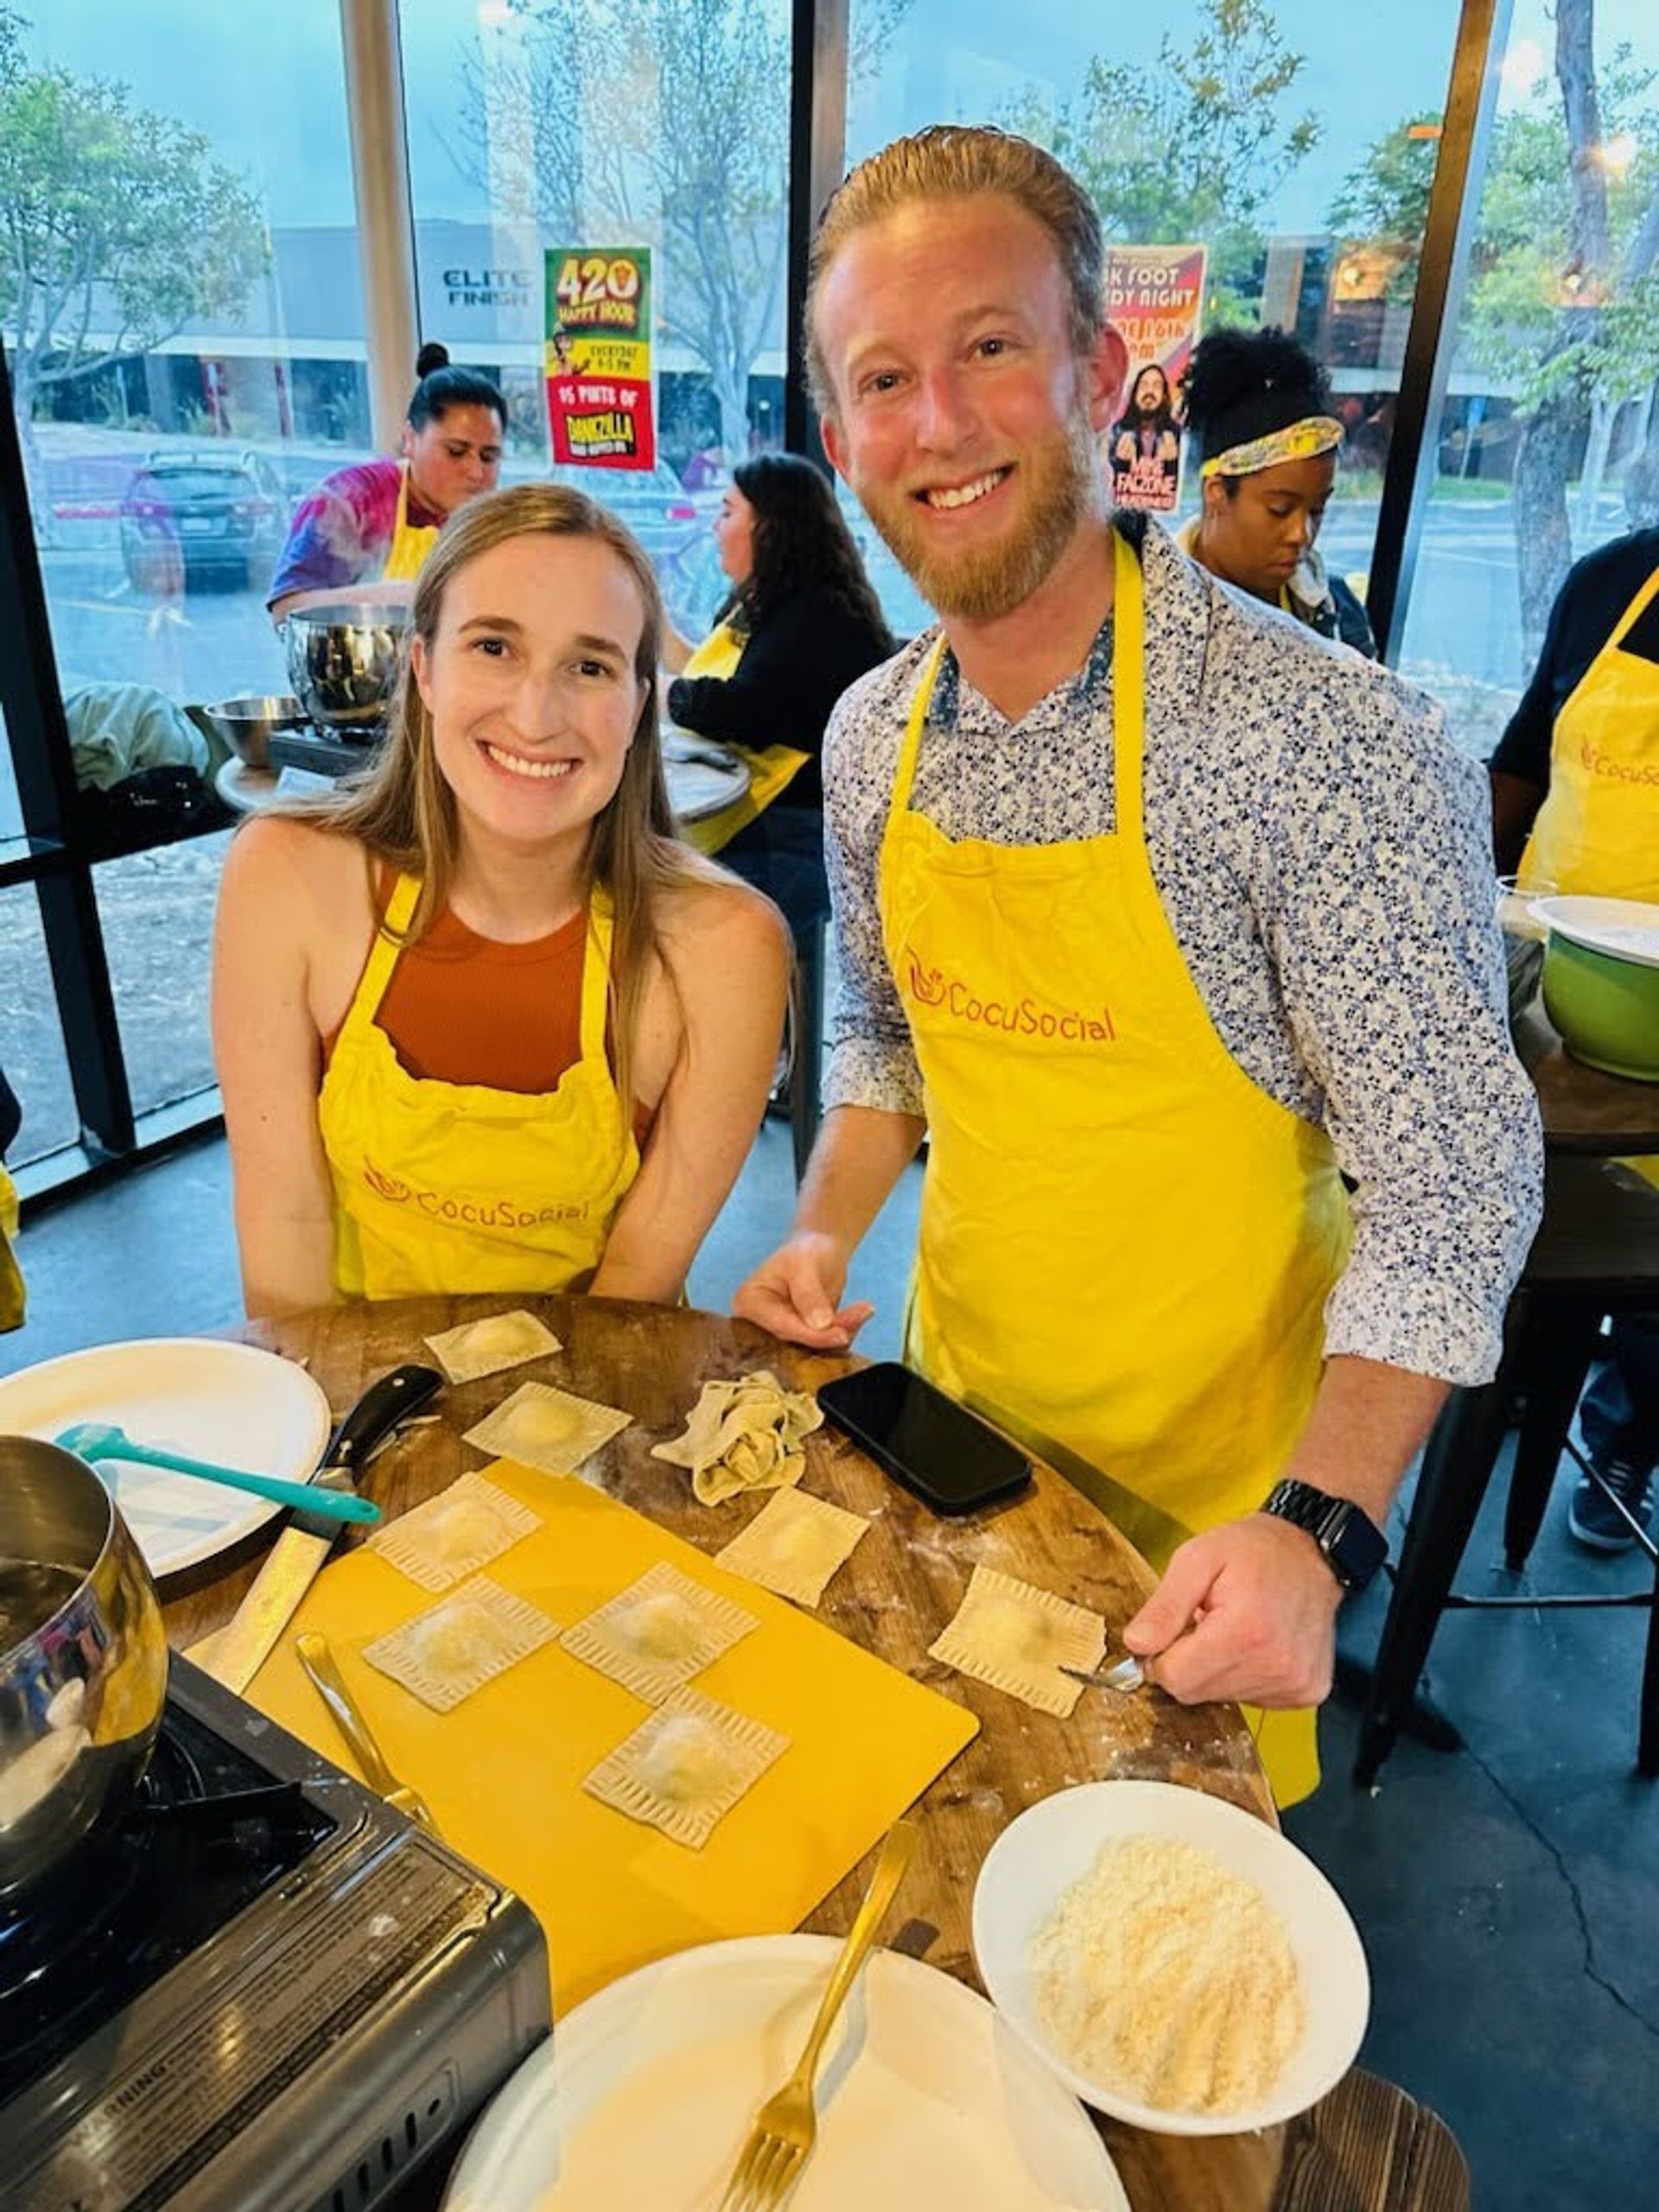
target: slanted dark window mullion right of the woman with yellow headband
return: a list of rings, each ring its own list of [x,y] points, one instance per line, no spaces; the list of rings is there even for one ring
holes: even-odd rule
[[[1411,580],[1418,566],[1422,518],[1433,493],[1440,453],[1440,411],[1451,361],[1458,352],[1469,248],[1486,181],[1486,148],[1498,108],[1498,73],[1509,44],[1513,0],[1462,0],[1458,44],[1433,166],[1429,217],[1422,232],[1418,288],[1400,367],[1394,436],[1383,471],[1371,577],[1365,606],[1383,659],[1394,668],[1405,644]]]

